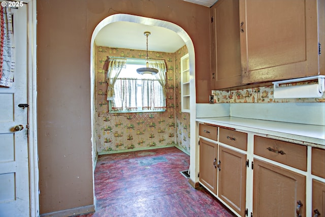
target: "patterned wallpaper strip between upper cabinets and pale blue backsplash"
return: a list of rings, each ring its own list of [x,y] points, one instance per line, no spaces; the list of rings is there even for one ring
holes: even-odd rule
[[[309,82],[313,84],[317,82]],[[292,83],[290,85],[300,85],[305,83]],[[298,103],[298,102],[325,102],[325,95],[321,98],[298,98],[298,99],[274,99],[274,87],[255,87],[241,90],[212,90],[214,103]]]

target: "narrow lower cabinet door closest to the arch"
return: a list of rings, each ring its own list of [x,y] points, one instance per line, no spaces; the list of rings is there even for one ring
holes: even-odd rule
[[[200,139],[200,181],[217,193],[217,144]]]

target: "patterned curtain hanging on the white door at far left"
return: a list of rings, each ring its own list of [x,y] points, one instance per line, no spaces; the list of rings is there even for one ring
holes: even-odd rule
[[[0,85],[11,87],[15,72],[15,43],[10,8],[1,7]]]

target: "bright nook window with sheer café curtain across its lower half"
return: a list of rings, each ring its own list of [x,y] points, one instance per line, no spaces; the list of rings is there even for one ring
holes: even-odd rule
[[[144,59],[126,59],[115,77],[114,95],[109,100],[110,113],[166,111],[164,87],[159,82],[161,72],[159,70],[158,76],[139,75],[136,70],[145,65]]]

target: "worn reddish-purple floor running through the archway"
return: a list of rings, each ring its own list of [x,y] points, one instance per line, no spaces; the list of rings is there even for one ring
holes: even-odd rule
[[[175,147],[99,156],[96,211],[104,216],[234,216],[204,188],[194,189],[180,171],[189,156]]]

